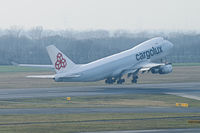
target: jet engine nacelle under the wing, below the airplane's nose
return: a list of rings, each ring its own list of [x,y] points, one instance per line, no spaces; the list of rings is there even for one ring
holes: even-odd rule
[[[152,68],[151,72],[153,74],[159,73],[159,74],[168,74],[172,72],[172,65],[171,64],[166,64],[157,68]]]

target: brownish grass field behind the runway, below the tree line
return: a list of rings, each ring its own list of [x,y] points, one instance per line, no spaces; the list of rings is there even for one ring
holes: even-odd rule
[[[0,66],[0,89],[2,88],[45,88],[65,86],[99,86],[98,82],[55,82],[53,79],[26,78],[28,75],[50,75],[54,72],[37,68],[19,68],[15,66]],[[126,78],[126,76],[124,76]],[[166,75],[144,73],[139,74],[138,84],[148,83],[181,83],[200,82],[200,66],[174,66],[173,72]],[[125,84],[132,84],[126,78]]]

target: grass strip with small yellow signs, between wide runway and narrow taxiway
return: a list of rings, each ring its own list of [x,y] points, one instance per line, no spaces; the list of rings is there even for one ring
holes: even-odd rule
[[[0,101],[0,109],[5,108],[83,108],[83,107],[175,107],[176,102],[188,103],[190,107],[200,107],[200,101],[169,94],[126,94],[107,96],[72,97],[69,103],[65,97],[23,98]]]

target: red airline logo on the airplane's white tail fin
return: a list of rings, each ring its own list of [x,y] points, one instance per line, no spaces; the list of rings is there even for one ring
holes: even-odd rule
[[[61,53],[57,54],[57,60],[55,62],[55,68],[60,70],[61,68],[65,68],[67,66],[66,59],[63,58]]]

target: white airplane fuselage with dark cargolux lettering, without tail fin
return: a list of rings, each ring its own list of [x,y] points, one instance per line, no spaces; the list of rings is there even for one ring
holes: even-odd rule
[[[126,51],[90,62],[81,64],[70,73],[56,74],[55,80],[61,82],[97,81],[108,77],[119,76],[128,71],[138,69],[139,64],[150,62],[165,57],[172,44],[163,38],[154,38],[145,41]],[[67,75],[79,75],[69,77]]]

